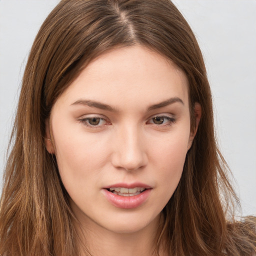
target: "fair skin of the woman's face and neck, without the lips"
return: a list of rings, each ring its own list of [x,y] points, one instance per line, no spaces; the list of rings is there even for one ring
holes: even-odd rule
[[[195,134],[187,87],[171,61],[136,45],[94,59],[53,105],[45,145],[56,155],[81,241],[86,236],[93,255],[152,254],[161,210],[179,182]],[[150,108],[170,98],[180,100]],[[199,104],[195,118],[198,125]],[[138,207],[116,207],[103,188],[119,182],[143,182],[150,194]]]

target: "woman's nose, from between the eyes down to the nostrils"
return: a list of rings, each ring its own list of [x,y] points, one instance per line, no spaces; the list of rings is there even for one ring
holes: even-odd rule
[[[112,165],[129,171],[144,167],[148,162],[144,142],[137,127],[120,129],[112,144]]]

